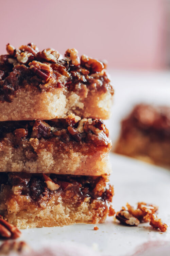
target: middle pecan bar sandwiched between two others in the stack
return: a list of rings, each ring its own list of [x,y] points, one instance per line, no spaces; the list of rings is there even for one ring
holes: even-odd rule
[[[0,122],[0,172],[102,175],[111,147],[101,119]]]

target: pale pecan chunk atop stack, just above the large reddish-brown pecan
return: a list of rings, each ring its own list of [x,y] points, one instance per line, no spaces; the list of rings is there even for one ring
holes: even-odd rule
[[[60,54],[51,48],[45,49],[42,52],[37,54],[37,58],[40,60],[46,60],[48,62],[57,63],[57,59],[60,57]]]

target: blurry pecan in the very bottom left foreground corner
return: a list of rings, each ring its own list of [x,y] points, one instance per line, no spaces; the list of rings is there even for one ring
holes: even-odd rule
[[[29,251],[30,251],[30,247],[28,246],[28,244],[26,244],[26,242],[23,242],[23,241],[19,241],[19,242],[5,241],[0,246],[1,255],[7,255],[7,254],[10,254],[11,252],[21,253],[21,252],[29,252]]]

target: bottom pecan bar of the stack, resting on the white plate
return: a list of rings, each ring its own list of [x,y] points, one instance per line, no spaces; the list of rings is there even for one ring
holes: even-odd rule
[[[17,227],[102,223],[114,214],[108,175],[0,173],[0,213]]]

